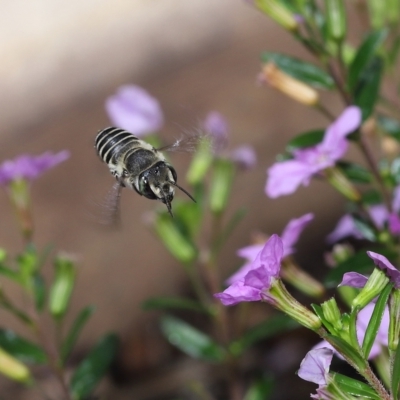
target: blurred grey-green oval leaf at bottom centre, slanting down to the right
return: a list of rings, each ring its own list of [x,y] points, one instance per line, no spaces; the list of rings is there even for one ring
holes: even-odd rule
[[[171,344],[190,357],[211,362],[221,362],[225,357],[224,349],[209,336],[178,318],[163,317],[161,330]]]

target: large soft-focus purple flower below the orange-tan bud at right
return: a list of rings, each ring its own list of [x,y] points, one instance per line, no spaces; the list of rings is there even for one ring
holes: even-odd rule
[[[361,123],[361,111],[347,107],[325,131],[321,143],[293,152],[293,159],[274,164],[268,170],[267,196],[276,198],[293,193],[301,184],[307,186],[313,175],[333,167],[347,151],[346,136]]]

